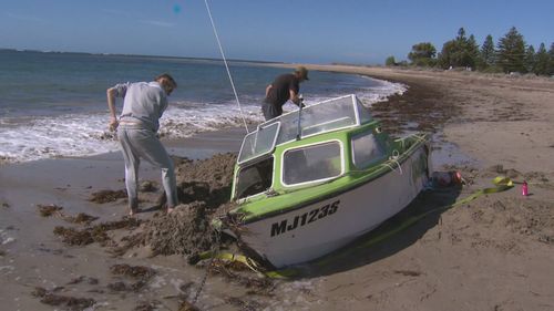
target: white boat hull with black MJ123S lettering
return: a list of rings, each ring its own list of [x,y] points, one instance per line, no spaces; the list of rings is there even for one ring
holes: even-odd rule
[[[423,189],[428,154],[420,144],[402,163],[334,197],[244,225],[242,240],[280,268],[329,253],[392,217]]]

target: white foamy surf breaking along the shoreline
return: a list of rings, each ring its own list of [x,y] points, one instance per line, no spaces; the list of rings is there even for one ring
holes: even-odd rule
[[[392,94],[402,94],[407,86],[399,83],[372,80],[372,85],[361,87],[356,94],[367,105],[386,100]],[[369,85],[369,84],[368,84]],[[305,103],[341,96],[305,94]],[[242,96],[242,111],[246,122],[264,121],[260,99]],[[284,111],[296,110],[293,104]],[[113,134],[107,132],[109,114],[69,114],[42,117],[0,118],[0,160],[28,162],[51,157],[92,156],[119,151]],[[225,126],[243,126],[240,111],[233,102],[225,103],[171,103],[161,120],[160,134],[166,137],[189,137],[199,132],[215,131]]]

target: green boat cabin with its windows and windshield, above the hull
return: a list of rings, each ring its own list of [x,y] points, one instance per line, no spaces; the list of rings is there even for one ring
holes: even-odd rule
[[[386,159],[387,144],[388,136],[356,95],[284,114],[245,136],[232,199],[256,200],[328,183]]]

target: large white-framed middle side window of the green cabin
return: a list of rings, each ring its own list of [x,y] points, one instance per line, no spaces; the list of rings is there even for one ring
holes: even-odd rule
[[[286,185],[328,179],[341,173],[339,142],[290,149],[284,155],[283,182]]]

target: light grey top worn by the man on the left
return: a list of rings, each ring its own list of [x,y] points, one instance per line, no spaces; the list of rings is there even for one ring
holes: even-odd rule
[[[160,117],[167,108],[167,96],[157,82],[120,83],[113,86],[115,96],[123,97],[121,118],[135,118],[146,128],[157,132]]]

